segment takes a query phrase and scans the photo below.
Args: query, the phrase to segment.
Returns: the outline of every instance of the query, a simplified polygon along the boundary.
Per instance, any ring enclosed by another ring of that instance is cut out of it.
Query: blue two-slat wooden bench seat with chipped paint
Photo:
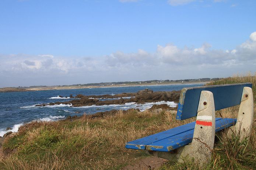
[[[230,127],[235,123],[235,118],[216,118],[215,132]],[[195,124],[196,122],[194,121],[154,135],[127,142],[125,147],[127,149],[170,152],[192,142]]]

